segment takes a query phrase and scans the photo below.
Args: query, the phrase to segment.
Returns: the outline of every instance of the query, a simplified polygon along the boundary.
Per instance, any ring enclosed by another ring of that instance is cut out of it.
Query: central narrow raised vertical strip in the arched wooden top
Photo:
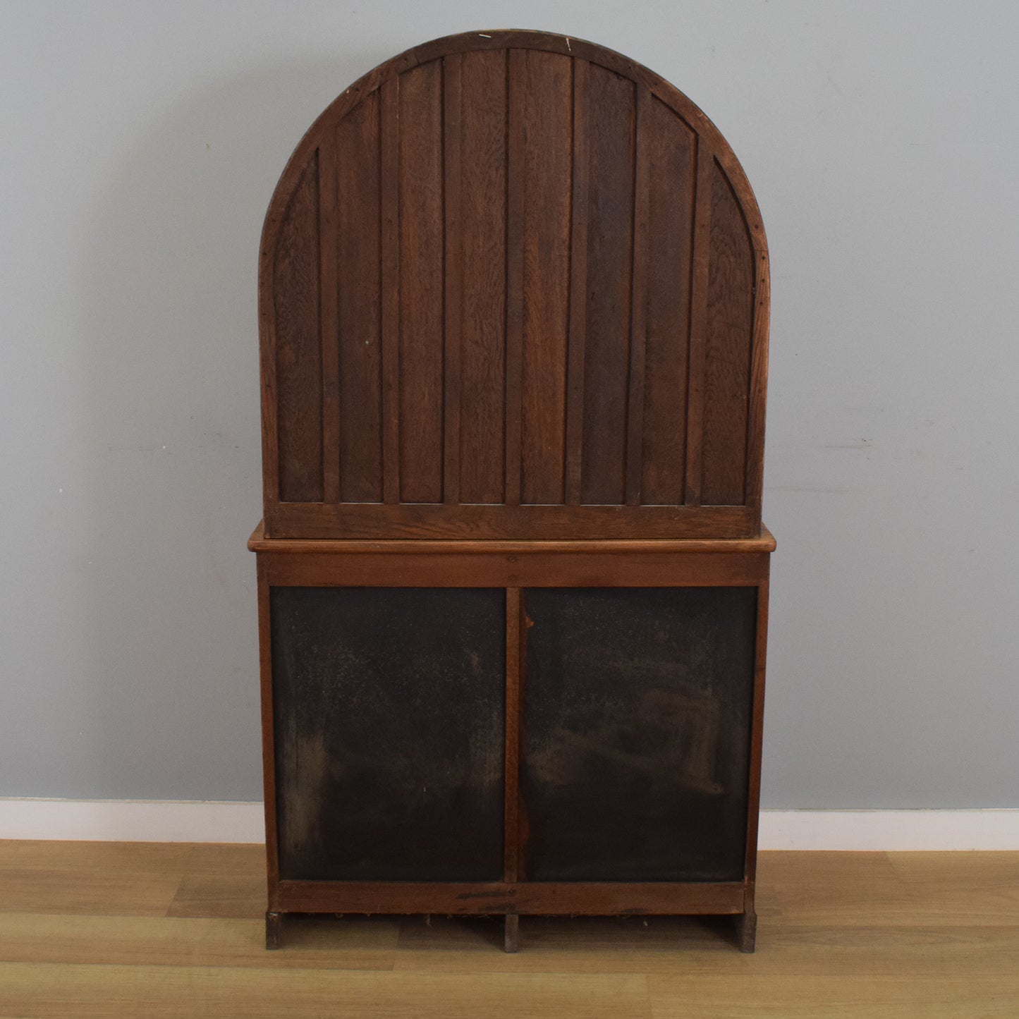
[[[527,53],[509,50],[506,172],[506,428],[505,503],[520,505],[521,371],[524,328],[524,147]]]

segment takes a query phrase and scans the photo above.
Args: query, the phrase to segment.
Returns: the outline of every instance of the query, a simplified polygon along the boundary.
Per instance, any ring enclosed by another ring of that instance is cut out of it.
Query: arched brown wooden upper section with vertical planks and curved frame
[[[266,216],[267,534],[756,534],[767,318],[753,193],[667,82],[535,32],[408,50]]]

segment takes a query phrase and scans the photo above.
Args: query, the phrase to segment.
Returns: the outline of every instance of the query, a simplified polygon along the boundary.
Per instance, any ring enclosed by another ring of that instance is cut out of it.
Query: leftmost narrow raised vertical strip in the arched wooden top
[[[339,309],[336,267],[336,130],[322,136],[318,158],[319,317],[322,324],[322,499],[339,501]]]

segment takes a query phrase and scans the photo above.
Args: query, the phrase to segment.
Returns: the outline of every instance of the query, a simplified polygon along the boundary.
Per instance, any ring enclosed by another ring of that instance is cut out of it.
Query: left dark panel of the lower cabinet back
[[[272,589],[281,878],[501,878],[504,612],[501,589]]]

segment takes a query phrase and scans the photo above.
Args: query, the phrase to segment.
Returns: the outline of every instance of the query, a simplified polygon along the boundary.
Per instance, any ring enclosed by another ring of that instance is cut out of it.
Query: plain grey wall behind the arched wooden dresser
[[[761,205],[765,805],[1019,806],[1019,5],[0,14],[0,796],[260,797],[262,216],[354,78],[514,25],[676,83]]]

